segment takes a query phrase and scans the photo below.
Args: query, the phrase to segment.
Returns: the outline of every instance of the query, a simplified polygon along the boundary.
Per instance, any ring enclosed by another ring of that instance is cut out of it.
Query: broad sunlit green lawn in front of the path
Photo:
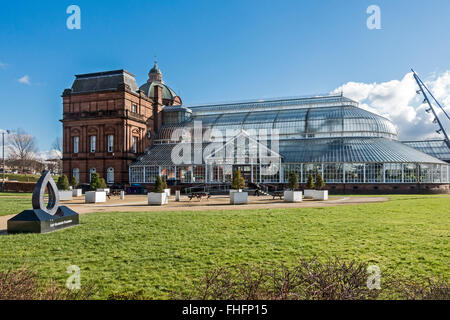
[[[97,298],[140,289],[167,298],[214,266],[268,267],[312,256],[448,279],[449,208],[449,196],[392,196],[328,208],[88,214],[80,226],[51,234],[0,236],[0,270],[27,264],[63,284],[75,264],[82,282],[99,289]]]

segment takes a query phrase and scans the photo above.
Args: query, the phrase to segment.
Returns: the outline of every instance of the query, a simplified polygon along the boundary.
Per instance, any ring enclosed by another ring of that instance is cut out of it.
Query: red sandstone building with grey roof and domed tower
[[[163,106],[181,104],[156,62],[139,88],[126,70],[80,74],[62,98],[63,172],[79,183],[93,172],[128,183],[128,166],[152,144]]]

